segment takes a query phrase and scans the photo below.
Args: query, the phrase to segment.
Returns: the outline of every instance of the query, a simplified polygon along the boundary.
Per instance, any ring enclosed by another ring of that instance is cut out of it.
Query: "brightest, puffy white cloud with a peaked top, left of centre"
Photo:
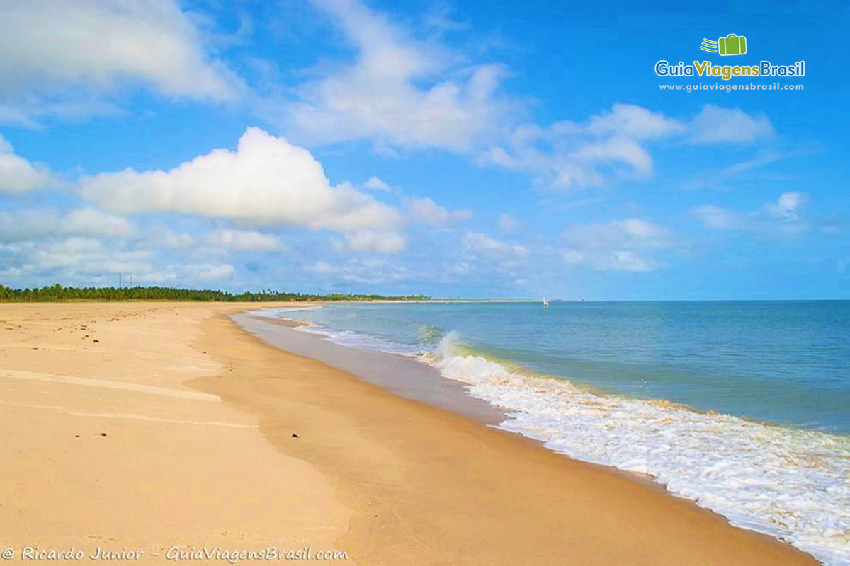
[[[342,233],[389,233],[401,224],[397,210],[350,184],[331,187],[308,150],[255,127],[236,151],[215,149],[170,171],[101,173],[80,184],[86,197],[119,214],[170,211]]]

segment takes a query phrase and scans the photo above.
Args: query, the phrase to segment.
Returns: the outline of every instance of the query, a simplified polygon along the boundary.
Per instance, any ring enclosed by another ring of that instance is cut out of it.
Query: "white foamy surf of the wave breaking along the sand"
[[[470,395],[506,409],[501,429],[587,462],[649,474],[731,524],[774,535],[829,566],[850,565],[850,441],[818,431],[601,395],[458,351],[422,356]]]

